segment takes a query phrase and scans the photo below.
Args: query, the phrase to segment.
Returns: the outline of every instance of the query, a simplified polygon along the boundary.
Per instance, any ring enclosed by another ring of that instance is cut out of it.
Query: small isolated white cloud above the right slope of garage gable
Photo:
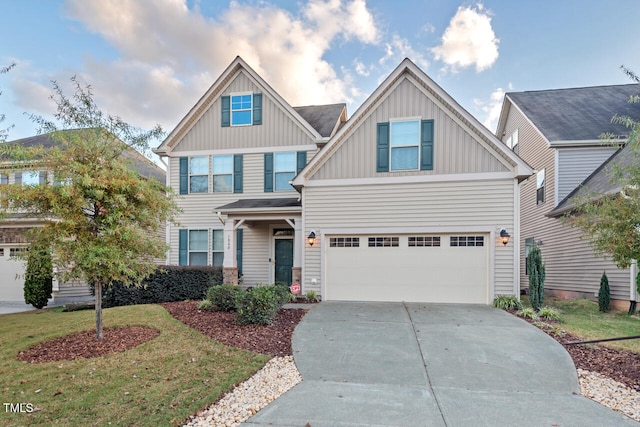
[[[470,66],[480,72],[498,59],[499,42],[482,4],[476,8],[460,6],[442,35],[442,44],[431,51],[452,72]]]

